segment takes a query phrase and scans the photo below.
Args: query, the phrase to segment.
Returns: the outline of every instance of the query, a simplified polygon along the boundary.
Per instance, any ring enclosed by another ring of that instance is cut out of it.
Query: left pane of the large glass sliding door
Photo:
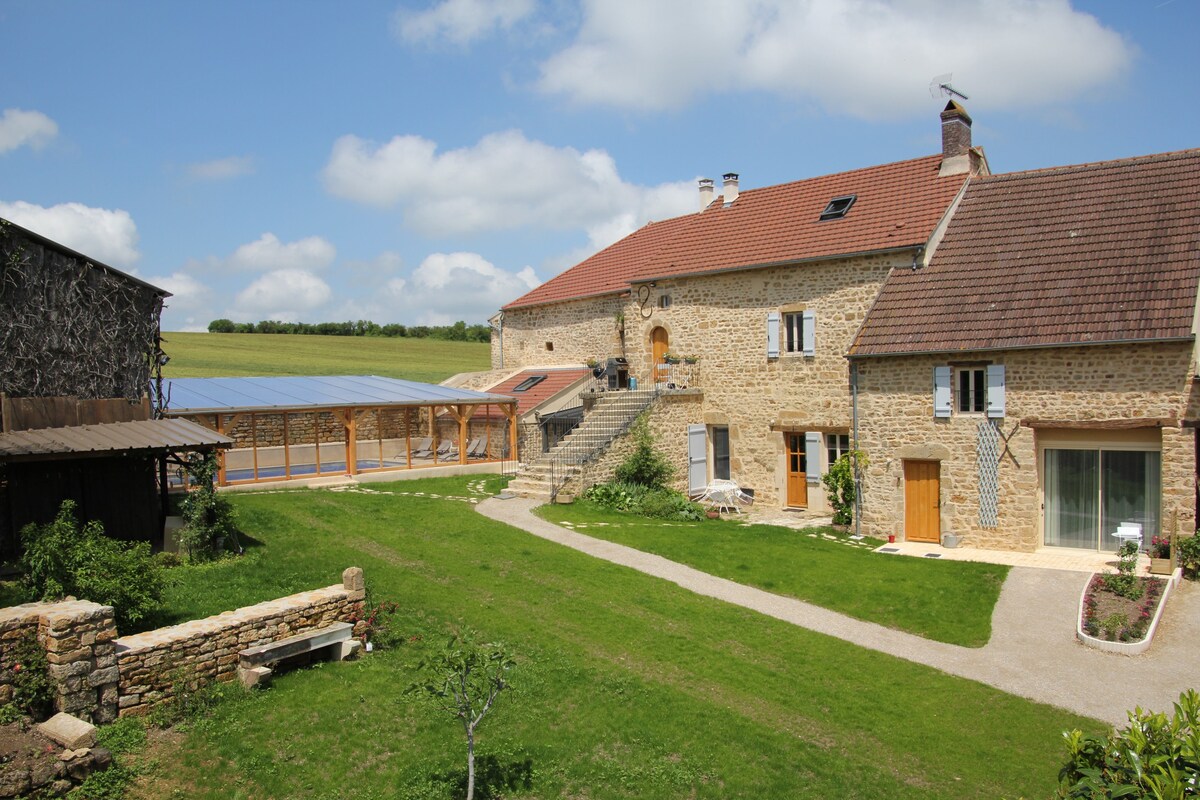
[[[1046,547],[1096,549],[1099,452],[1046,450]]]

